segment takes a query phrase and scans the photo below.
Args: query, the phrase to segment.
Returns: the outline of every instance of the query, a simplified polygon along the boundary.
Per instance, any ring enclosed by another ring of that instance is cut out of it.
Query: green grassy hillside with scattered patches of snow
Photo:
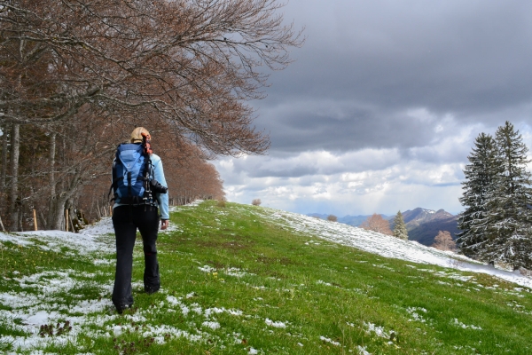
[[[160,233],[162,289],[143,293],[138,244],[136,307],[123,315],[110,302],[112,236],[0,234],[0,351],[532,353],[529,288],[342,246],[317,235],[339,224],[318,233],[294,218],[215,201],[176,209]]]

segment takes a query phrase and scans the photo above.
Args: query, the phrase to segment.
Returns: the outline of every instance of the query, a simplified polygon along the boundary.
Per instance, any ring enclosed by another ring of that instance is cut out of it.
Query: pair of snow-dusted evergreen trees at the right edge
[[[511,122],[481,133],[467,157],[458,248],[490,264],[532,268],[532,185],[528,147]]]

